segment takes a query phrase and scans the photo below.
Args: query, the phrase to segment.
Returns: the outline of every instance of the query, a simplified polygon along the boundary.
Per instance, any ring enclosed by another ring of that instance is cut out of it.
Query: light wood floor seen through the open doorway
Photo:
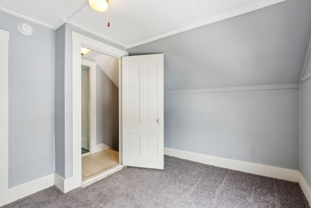
[[[103,150],[82,157],[82,182],[119,164],[119,152]]]

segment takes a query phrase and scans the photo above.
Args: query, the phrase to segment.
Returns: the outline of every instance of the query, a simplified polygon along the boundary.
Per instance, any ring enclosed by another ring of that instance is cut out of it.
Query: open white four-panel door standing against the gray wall
[[[163,57],[122,57],[123,165],[164,168]]]

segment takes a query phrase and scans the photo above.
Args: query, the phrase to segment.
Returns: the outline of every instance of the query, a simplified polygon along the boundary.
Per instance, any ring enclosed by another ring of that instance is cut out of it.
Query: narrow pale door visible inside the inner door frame
[[[89,149],[89,68],[81,66],[82,148]]]

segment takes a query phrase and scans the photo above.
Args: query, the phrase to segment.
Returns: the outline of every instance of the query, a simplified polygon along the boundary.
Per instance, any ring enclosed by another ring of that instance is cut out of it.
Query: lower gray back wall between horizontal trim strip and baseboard
[[[298,170],[299,90],[165,94],[164,146]]]

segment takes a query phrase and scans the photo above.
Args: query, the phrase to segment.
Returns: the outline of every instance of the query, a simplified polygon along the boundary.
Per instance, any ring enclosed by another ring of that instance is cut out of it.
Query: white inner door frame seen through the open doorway
[[[89,67],[89,154],[96,153],[96,62],[81,59]],[[87,154],[86,154],[87,155]]]

